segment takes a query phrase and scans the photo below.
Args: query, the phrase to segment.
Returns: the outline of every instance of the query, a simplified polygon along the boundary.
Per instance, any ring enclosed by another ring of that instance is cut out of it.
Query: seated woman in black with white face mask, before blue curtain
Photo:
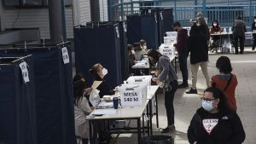
[[[110,89],[106,81],[104,80],[104,77],[108,74],[108,70],[104,68],[101,64],[97,63],[94,66],[91,67],[90,73],[94,76],[94,80],[96,81],[102,81],[102,84],[100,84],[97,89],[100,90],[100,97],[102,98],[104,95],[114,95],[115,91],[113,89]]]

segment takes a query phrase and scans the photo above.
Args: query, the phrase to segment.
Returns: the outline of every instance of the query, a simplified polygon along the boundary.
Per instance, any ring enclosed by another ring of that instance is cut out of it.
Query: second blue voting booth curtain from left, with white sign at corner
[[[0,49],[0,56],[33,55],[38,144],[75,144],[73,73],[64,64],[61,47]]]

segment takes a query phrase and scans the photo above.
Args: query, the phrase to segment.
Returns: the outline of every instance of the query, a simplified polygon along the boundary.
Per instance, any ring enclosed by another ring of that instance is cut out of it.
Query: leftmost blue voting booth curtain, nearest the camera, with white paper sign
[[[26,84],[19,66],[23,61],[30,80]],[[0,58],[0,94],[0,142],[37,144],[32,55]]]

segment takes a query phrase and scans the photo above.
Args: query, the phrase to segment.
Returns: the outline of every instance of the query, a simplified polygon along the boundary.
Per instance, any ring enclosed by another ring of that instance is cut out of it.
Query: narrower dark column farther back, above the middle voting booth
[[[90,0],[91,21],[101,21],[99,0]]]

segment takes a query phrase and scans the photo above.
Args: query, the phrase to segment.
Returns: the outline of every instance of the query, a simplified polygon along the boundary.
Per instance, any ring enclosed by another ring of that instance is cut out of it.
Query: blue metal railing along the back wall
[[[253,23],[253,16],[256,15],[254,0],[119,0],[117,2],[110,5],[117,19],[125,20],[125,15],[140,14],[143,8],[172,8],[174,20],[180,21],[183,26],[190,26],[189,20],[195,19],[196,14],[202,12],[209,26],[212,25],[212,20],[218,20],[220,26],[230,27],[236,16],[240,15],[249,28]],[[109,17],[113,18],[113,15]]]

